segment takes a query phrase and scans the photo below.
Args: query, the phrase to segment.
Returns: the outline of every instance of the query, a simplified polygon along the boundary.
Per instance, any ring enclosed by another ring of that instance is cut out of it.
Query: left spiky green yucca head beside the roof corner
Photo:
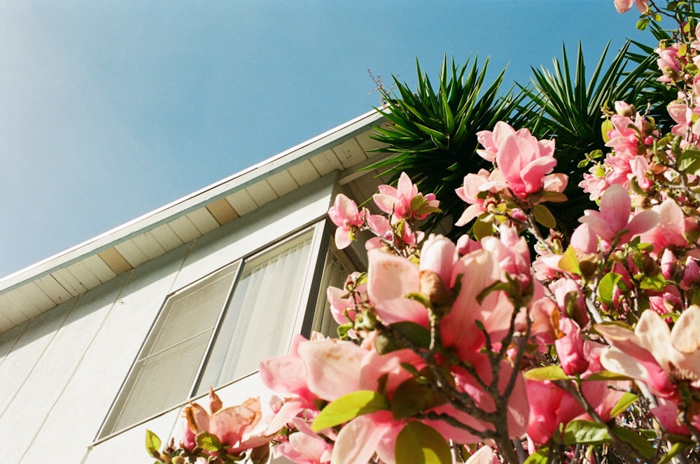
[[[393,174],[394,180],[405,171],[421,192],[434,192],[442,213],[426,225],[428,229],[445,216],[454,223],[464,210],[454,190],[466,174],[490,167],[476,153],[477,132],[493,128],[499,120],[521,125],[524,119],[516,113],[522,94],[499,94],[505,70],[486,85],[487,66],[488,61],[479,68],[476,59],[463,66],[454,60],[448,65],[445,58],[436,87],[419,64],[415,92],[396,78],[394,92],[379,87],[386,105],[378,111],[390,126],[377,128],[374,138],[386,144],[381,151],[391,156],[367,169]]]

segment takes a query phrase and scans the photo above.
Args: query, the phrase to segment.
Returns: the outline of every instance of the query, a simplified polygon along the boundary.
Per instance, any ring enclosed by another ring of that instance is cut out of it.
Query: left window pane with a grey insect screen
[[[188,398],[238,267],[231,265],[167,300],[103,437]]]

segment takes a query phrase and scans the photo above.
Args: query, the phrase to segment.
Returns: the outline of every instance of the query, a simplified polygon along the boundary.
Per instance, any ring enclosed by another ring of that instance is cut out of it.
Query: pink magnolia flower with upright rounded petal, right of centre
[[[630,209],[631,199],[627,190],[621,185],[610,185],[601,197],[601,210],[587,209],[579,221],[588,224],[607,249],[615,239],[625,243],[635,235],[650,230],[659,220],[659,214],[654,211],[642,211],[630,218]]]

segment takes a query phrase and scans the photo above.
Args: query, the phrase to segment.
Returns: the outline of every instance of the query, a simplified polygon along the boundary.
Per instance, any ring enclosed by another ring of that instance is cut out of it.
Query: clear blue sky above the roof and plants
[[[613,0],[0,0],[0,277],[370,111],[367,73],[491,57],[507,83],[638,13]]]

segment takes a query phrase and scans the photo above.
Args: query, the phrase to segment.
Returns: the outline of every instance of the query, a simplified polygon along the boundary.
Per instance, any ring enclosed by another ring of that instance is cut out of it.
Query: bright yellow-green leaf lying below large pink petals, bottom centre
[[[326,405],[314,419],[311,428],[318,432],[381,409],[388,409],[384,395],[370,390],[353,391]]]

